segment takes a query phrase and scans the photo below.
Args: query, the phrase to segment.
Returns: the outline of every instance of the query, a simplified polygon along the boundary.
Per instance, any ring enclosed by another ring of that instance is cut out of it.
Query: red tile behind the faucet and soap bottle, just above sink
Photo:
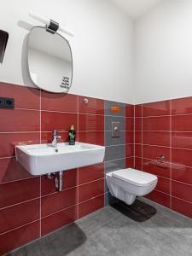
[[[68,131],[59,131],[59,136],[61,136],[60,139],[58,139],[58,143],[68,143]],[[76,141],[78,132],[76,133]],[[45,131],[41,132],[41,143],[52,143],[53,141],[53,131]]]

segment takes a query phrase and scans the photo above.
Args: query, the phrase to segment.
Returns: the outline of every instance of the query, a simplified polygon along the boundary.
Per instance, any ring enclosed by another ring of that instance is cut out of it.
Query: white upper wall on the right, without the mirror
[[[192,1],[165,0],[135,24],[136,102],[192,96]]]

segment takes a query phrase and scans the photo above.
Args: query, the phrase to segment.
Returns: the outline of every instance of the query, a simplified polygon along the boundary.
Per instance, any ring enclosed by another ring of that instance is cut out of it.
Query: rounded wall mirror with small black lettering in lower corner
[[[72,50],[67,39],[35,26],[28,39],[28,68],[32,82],[50,92],[67,92],[73,79]]]

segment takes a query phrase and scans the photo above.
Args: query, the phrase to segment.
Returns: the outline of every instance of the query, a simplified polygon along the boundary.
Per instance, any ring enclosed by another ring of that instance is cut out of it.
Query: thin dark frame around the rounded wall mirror
[[[71,89],[72,83],[73,83],[73,53],[72,53],[72,47],[71,47],[71,45],[69,44],[69,40],[67,40],[67,38],[64,38],[64,37],[63,37],[60,33],[58,33],[58,32],[55,32],[54,35],[57,34],[58,36],[60,36],[63,40],[65,40],[65,41],[67,42],[67,44],[68,44],[68,46],[69,46],[69,49],[70,49],[71,58],[72,58],[72,78],[71,78],[71,83],[70,83],[70,85],[69,85],[69,88],[68,88],[67,90],[65,89],[65,91],[61,91],[61,92],[60,92],[60,91],[46,90],[46,89],[41,88],[40,86],[38,86],[38,84],[35,84],[34,81],[32,80],[32,77],[31,77],[31,74],[30,74],[30,68],[29,68],[29,37],[30,37],[30,33],[32,32],[32,30],[33,30],[34,28],[37,28],[37,27],[43,28],[46,32],[49,32],[49,31],[46,29],[46,26],[33,26],[32,29],[30,30],[30,32],[28,33],[28,38],[27,38],[27,58],[26,58],[26,60],[27,60],[27,69],[28,69],[29,79],[32,81],[32,84],[34,84],[35,86],[37,86],[40,90],[45,90],[45,91],[48,91],[48,92],[50,92],[50,93],[57,93],[57,94],[59,94],[59,93],[67,93],[67,92]]]

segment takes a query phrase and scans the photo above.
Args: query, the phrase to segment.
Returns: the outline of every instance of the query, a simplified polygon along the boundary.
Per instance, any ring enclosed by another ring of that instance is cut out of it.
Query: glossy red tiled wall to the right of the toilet
[[[192,218],[192,97],[135,106],[135,166],[158,176],[147,195]],[[165,161],[157,158],[163,154]]]

